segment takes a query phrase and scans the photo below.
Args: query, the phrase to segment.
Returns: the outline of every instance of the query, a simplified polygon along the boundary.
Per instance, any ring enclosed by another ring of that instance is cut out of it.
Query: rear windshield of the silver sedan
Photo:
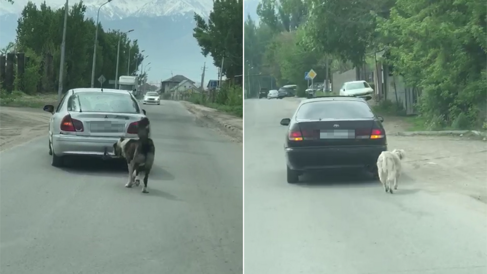
[[[69,98],[68,111],[140,113],[139,105],[125,93],[80,92]]]

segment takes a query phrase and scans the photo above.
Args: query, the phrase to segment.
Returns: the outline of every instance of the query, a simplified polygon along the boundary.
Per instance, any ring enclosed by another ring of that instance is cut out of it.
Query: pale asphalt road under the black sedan
[[[486,204],[473,198],[413,188],[407,175],[390,195],[348,170],[288,184],[279,122],[294,110],[244,103],[245,273],[487,273]]]

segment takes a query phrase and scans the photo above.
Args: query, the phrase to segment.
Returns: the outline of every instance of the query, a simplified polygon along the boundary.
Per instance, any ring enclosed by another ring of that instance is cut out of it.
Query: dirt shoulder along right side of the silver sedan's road
[[[243,142],[244,127],[243,119],[236,117],[216,109],[208,108],[206,106],[193,104],[188,101],[181,101],[187,110],[193,113],[197,120],[209,127],[216,128],[218,131],[231,137],[233,140]]]

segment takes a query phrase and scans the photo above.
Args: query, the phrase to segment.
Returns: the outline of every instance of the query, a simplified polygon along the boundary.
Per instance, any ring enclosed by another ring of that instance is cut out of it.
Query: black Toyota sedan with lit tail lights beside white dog
[[[305,172],[365,167],[377,176],[376,161],[387,150],[384,119],[361,98],[331,96],[304,99],[291,118],[284,142],[287,182]]]

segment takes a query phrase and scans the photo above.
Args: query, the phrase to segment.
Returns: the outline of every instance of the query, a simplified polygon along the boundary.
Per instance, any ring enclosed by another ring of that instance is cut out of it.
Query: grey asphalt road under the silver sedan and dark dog
[[[242,273],[242,145],[178,102],[144,108],[149,194],[123,163],[52,167],[47,136],[1,152],[2,274]]]

